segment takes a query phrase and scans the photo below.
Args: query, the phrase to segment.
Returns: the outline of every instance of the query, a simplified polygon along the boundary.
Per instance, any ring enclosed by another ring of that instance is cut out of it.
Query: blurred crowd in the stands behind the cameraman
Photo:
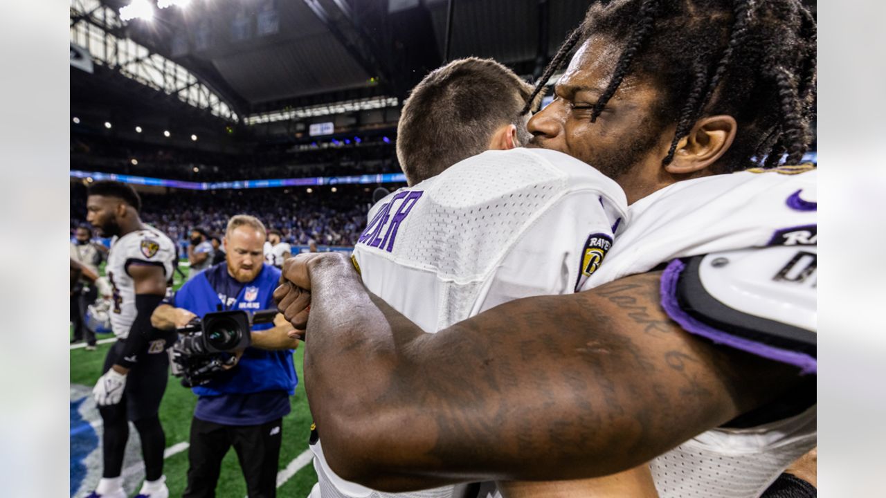
[[[288,189],[173,191],[140,194],[142,220],[187,245],[190,230],[203,228],[220,237],[234,214],[252,214],[270,229],[283,232],[292,245],[354,245],[366,226],[376,186],[338,185]],[[86,187],[71,183],[71,232],[86,220]],[[96,234],[97,235],[97,234]]]

